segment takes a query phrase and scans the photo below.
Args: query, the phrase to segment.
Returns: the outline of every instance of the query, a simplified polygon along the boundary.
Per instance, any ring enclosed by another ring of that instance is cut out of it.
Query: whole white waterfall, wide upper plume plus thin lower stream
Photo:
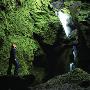
[[[66,36],[69,38],[71,35],[71,32],[73,31],[73,29],[72,29],[73,21],[72,21],[71,15],[62,12],[61,10],[56,11],[55,13],[58,16],[58,18],[60,19],[60,22],[63,26],[63,29],[65,31]],[[74,62],[75,62],[76,57],[77,57],[77,50],[76,50],[75,46],[73,46],[73,52],[72,53],[73,53],[74,58],[73,58],[73,62],[70,63],[70,65],[69,65],[70,71],[72,71],[75,68]]]

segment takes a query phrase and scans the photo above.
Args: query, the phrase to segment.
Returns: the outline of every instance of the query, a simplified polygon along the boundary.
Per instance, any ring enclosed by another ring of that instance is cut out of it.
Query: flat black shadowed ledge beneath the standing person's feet
[[[28,90],[27,87],[31,86],[35,77],[28,76],[0,76],[0,90]]]

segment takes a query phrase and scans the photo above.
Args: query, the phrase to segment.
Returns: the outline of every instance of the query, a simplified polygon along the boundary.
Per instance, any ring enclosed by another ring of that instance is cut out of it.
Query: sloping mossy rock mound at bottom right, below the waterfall
[[[29,87],[29,90],[90,90],[90,75],[81,69],[75,69],[46,83]]]

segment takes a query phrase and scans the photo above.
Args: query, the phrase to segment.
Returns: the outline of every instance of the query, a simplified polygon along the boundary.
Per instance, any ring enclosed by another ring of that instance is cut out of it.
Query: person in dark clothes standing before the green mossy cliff
[[[18,60],[16,58],[16,45],[15,44],[12,44],[12,46],[11,46],[10,58],[9,58],[9,67],[7,70],[7,75],[11,75],[12,65],[15,66],[14,75],[17,76],[18,75],[19,63],[18,63]]]

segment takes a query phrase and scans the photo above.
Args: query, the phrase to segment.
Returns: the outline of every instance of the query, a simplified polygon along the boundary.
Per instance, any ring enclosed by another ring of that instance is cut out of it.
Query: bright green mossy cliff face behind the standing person
[[[32,63],[34,55],[45,55],[38,42],[34,40],[33,32],[43,36],[43,42],[49,45],[55,42],[58,30],[60,33],[63,32],[50,2],[51,0],[0,1],[0,75],[7,74],[10,47],[12,43],[16,43],[17,58],[20,63],[19,75],[34,74],[38,81],[43,79],[45,69],[35,67]],[[87,17],[85,11],[81,12],[81,16],[78,17],[79,21]],[[59,38],[65,38],[63,36],[62,33]],[[69,49],[63,52],[68,60],[70,53],[67,55],[66,52],[70,51]],[[61,55],[62,60],[65,59],[64,54]],[[56,68],[59,68],[59,65]]]

